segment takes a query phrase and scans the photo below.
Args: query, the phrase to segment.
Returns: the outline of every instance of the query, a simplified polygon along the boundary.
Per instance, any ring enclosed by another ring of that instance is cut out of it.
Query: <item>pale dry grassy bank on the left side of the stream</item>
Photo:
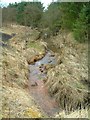
[[[0,82],[2,84],[2,111],[0,117],[43,117],[39,106],[36,105],[29,94],[28,63],[42,58],[45,54],[45,47],[42,42],[35,42],[35,36],[33,38],[33,35],[30,35],[32,30],[28,27],[12,26],[2,28],[2,30],[3,32],[5,30],[5,33],[15,33],[16,35],[9,40],[8,47],[0,48],[2,51],[0,57],[0,77],[2,80]],[[26,34],[28,37],[26,37]],[[28,46],[27,42],[29,42]]]

